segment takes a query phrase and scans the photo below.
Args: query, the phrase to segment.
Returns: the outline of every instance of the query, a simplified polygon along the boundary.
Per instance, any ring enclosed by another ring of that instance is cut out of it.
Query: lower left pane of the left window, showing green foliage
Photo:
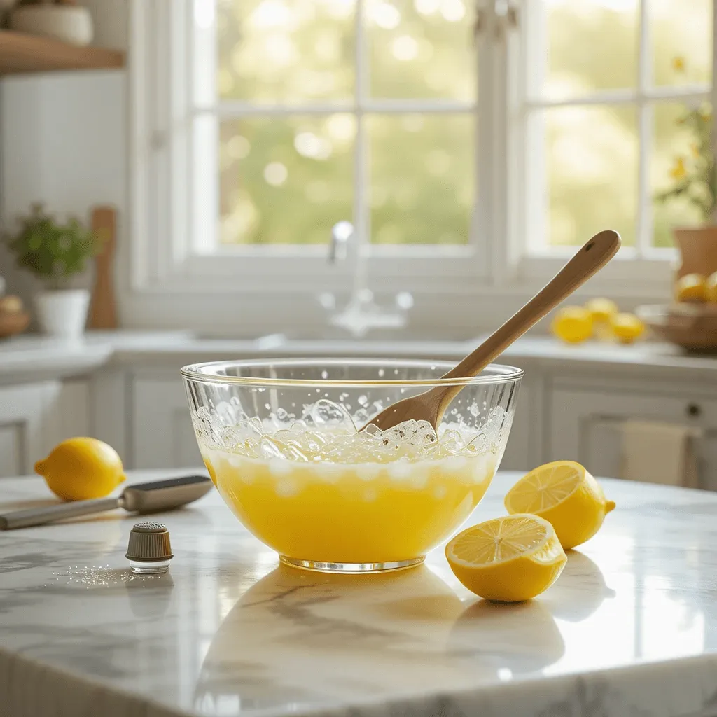
[[[323,244],[353,212],[353,115],[222,123],[222,244]]]

